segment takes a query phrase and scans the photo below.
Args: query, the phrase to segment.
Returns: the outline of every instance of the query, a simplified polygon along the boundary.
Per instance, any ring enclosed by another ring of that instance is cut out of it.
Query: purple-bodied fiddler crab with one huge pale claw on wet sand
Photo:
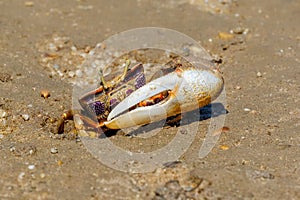
[[[168,69],[146,83],[144,68],[137,64],[130,69],[127,60],[123,74],[105,81],[101,73],[99,88],[79,99],[83,110],[62,115],[73,119],[79,129],[122,129],[145,125],[208,105],[222,92],[224,80],[217,69],[195,67],[182,57],[166,64]],[[75,118],[77,120],[75,120]]]

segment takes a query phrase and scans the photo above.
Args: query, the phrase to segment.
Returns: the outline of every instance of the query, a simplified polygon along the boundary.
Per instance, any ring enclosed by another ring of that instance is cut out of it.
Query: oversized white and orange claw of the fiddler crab
[[[144,125],[206,106],[218,97],[223,84],[218,71],[208,68],[177,68],[174,72],[149,82],[120,102],[108,115],[105,126],[120,129]],[[158,103],[137,106],[163,92],[168,95]]]

